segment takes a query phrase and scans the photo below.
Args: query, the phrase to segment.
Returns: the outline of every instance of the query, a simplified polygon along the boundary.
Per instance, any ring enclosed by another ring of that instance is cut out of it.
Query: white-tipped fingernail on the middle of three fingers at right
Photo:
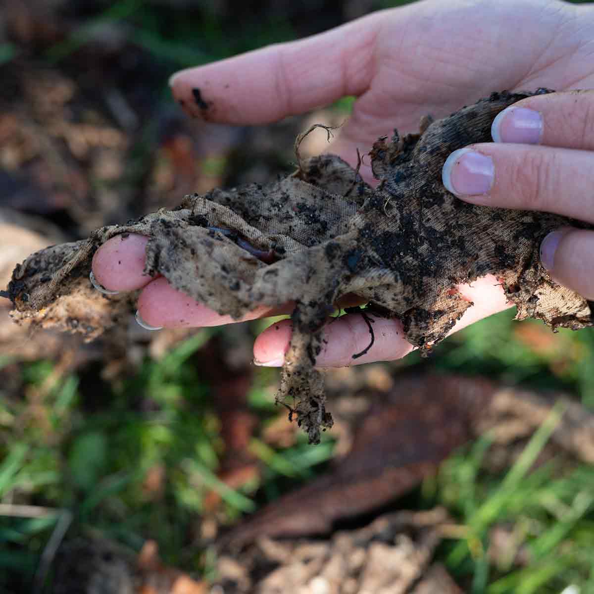
[[[441,179],[452,194],[488,194],[495,176],[493,160],[472,149],[455,150],[445,160]]]

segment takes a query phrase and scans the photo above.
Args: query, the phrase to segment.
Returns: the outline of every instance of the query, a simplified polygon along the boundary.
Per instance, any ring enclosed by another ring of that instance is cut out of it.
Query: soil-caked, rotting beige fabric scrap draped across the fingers
[[[369,153],[380,182],[375,190],[339,157],[324,154],[299,160],[296,172],[268,185],[187,195],[175,210],[37,252],[12,275],[12,315],[64,327],[62,310],[54,308],[50,322],[48,308],[78,295],[86,308],[68,315],[80,320],[76,331],[88,326],[95,336],[112,323],[95,312],[119,302],[87,290],[94,251],[115,235],[147,235],[145,273],[162,274],[219,314],[240,318],[255,304],[295,303],[279,400],[312,443],[332,423],[315,369],[320,330],[347,293],[368,302],[369,314],[402,320],[406,340],[422,352],[444,339],[471,305],[454,287],[485,274],[501,280],[518,319],[539,318],[552,328],[592,326],[586,299],[555,283],[539,259],[551,230],[592,226],[466,204],[441,182],[452,151],[490,141],[495,116],[531,94],[492,93],[448,118],[424,119],[422,133],[380,138]],[[194,97],[208,107],[200,90]]]

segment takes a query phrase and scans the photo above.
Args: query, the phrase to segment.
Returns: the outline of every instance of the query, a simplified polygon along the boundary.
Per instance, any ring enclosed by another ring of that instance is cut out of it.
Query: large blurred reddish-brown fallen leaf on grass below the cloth
[[[325,534],[336,520],[405,494],[473,437],[473,424],[494,391],[489,382],[459,378],[400,381],[365,418],[350,452],[330,472],[245,520],[220,545],[237,548],[264,535]]]

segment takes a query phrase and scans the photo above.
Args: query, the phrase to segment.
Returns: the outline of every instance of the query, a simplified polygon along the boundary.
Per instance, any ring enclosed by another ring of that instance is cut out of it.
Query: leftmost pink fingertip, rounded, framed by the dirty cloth
[[[149,238],[122,233],[105,242],[93,256],[93,274],[97,282],[112,291],[140,289],[151,277],[143,274]]]

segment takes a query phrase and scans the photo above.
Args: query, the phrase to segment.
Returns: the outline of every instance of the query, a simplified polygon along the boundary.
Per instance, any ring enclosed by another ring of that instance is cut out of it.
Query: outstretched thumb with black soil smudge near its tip
[[[209,121],[265,124],[303,113],[367,88],[381,18],[188,68],[169,84],[189,115]]]

